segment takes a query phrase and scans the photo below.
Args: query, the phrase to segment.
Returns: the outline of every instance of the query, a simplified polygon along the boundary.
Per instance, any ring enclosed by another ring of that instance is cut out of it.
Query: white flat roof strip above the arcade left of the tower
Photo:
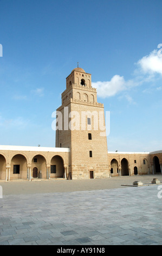
[[[46,147],[10,146],[10,145],[0,145],[0,150],[38,151],[38,152],[70,152],[69,148],[46,148]]]

